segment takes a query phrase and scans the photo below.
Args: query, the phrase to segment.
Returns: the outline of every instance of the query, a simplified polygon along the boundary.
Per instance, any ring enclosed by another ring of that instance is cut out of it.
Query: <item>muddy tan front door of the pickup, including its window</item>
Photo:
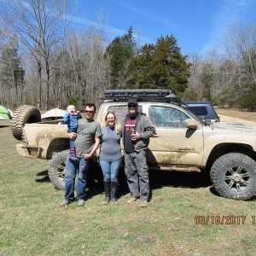
[[[158,137],[150,138],[148,165],[201,166],[203,134],[200,123],[197,130],[186,128],[187,113],[175,106],[151,106],[148,109]]]

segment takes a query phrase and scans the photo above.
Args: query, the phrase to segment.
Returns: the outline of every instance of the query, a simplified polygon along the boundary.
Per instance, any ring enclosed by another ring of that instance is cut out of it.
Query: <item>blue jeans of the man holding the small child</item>
[[[89,160],[84,157],[78,157],[77,160],[66,159],[65,169],[65,200],[74,200],[75,177],[78,173],[77,199],[84,200],[86,188],[86,176],[89,166]]]

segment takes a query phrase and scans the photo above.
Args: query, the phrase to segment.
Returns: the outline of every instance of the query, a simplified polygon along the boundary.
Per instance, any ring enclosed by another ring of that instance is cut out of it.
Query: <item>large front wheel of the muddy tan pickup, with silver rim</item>
[[[256,195],[256,162],[246,154],[224,154],[210,172],[213,188],[226,198],[248,200]]]

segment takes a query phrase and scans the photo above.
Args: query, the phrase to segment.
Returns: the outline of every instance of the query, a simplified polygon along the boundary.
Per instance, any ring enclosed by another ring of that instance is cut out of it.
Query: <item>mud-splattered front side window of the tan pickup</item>
[[[189,117],[177,108],[152,106],[149,108],[149,119],[157,127],[186,127]]]

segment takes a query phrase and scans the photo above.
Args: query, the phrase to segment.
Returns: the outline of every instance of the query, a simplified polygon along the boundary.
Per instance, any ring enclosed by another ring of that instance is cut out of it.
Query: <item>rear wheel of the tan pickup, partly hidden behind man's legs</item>
[[[65,189],[65,167],[69,150],[56,154],[49,163],[48,176],[56,189]]]

